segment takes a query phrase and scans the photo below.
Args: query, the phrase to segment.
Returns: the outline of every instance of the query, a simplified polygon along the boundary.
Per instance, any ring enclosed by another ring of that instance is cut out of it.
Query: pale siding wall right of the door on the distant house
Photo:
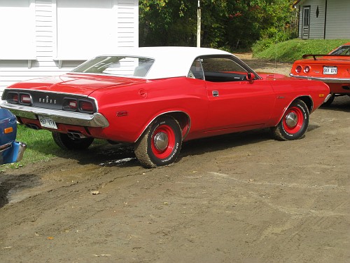
[[[350,1],[328,0],[326,39],[350,39]]]

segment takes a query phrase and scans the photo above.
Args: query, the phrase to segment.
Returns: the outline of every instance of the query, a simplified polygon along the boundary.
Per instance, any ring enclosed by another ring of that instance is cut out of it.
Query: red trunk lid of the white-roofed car
[[[22,81],[10,86],[10,88],[40,90],[56,93],[74,93],[88,96],[100,88],[131,85],[144,81],[144,79],[133,79],[118,76],[65,74],[62,76],[51,76],[41,79]]]

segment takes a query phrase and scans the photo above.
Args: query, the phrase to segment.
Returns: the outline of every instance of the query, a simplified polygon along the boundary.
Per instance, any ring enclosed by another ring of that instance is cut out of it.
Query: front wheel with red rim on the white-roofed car
[[[304,136],[309,126],[309,109],[302,100],[290,104],[279,124],[272,128],[276,140],[297,140]]]

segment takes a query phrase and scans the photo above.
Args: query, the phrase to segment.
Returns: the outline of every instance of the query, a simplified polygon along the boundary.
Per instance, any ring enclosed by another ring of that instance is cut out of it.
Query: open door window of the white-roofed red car
[[[206,81],[246,81],[246,69],[230,58],[201,58],[201,65]]]

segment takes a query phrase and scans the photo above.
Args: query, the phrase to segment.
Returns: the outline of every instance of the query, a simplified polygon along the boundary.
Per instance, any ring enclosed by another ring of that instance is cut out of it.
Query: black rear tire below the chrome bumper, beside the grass
[[[52,132],[52,138],[59,147],[65,150],[85,150],[94,141],[94,138],[91,137],[73,139],[65,133],[57,132]]]

